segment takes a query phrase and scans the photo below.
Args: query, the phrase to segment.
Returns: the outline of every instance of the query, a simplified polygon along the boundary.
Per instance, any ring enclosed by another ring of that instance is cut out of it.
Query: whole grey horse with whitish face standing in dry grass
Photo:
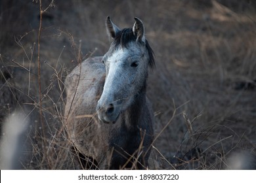
[[[90,57],[66,76],[65,128],[83,169],[148,169],[154,112],[146,97],[154,52],[144,25],[119,29],[110,17],[112,39],[104,56]]]

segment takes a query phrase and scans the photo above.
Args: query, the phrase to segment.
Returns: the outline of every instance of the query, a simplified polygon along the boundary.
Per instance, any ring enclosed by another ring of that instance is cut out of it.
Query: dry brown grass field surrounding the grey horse
[[[253,1],[55,2],[42,17],[40,52],[39,2],[1,3],[1,127],[16,109],[30,118],[20,169],[77,168],[63,127],[63,81],[80,60],[108,50],[106,16],[119,27],[138,16],[156,54],[148,79],[156,112],[150,168],[232,169],[229,157],[245,152],[252,157],[246,169],[255,169]]]

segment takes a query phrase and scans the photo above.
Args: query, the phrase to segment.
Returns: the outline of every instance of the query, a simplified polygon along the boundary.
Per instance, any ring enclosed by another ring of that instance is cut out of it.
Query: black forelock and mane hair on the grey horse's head
[[[133,34],[133,29],[131,28],[125,28],[119,31],[113,41],[114,46],[121,46],[122,48],[127,48],[129,42],[136,41],[136,37]],[[148,44],[148,41],[146,40],[146,50],[148,50],[148,56],[149,56],[149,66],[151,69],[154,69],[155,67],[155,58],[154,58],[154,52],[150,45]]]

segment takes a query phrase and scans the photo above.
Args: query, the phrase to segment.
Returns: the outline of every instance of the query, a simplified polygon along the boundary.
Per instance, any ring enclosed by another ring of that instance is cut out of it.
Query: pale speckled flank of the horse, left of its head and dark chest
[[[96,141],[102,141],[96,132],[99,130],[96,103],[102,93],[104,80],[105,69],[100,57],[86,59],[65,80],[66,130],[81,152],[86,152],[89,146],[95,146]],[[97,153],[94,150],[88,152],[88,155],[93,154]]]

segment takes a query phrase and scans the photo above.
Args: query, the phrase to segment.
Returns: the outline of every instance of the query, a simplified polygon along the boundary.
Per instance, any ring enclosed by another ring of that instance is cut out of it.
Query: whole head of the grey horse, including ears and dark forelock
[[[106,80],[96,109],[100,120],[114,123],[146,87],[149,52],[139,18],[132,29],[120,30],[108,17],[106,27],[114,41],[102,59]]]

